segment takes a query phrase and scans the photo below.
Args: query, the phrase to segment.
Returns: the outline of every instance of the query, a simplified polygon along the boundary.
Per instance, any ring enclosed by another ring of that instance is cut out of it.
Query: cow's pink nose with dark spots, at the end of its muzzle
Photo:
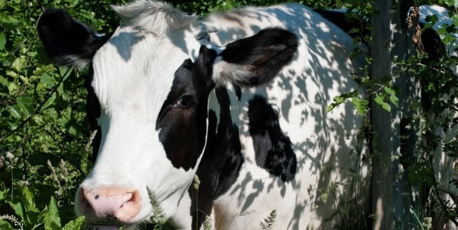
[[[111,217],[115,217],[117,222],[129,222],[141,209],[141,198],[137,190],[81,188],[80,193],[80,211],[89,222],[99,222]]]

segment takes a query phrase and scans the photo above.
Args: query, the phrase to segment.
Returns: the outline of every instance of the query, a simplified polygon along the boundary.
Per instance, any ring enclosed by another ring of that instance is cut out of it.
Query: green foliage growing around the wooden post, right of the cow
[[[352,29],[351,32],[361,33],[364,29],[370,31],[372,28],[367,26],[370,25],[370,22],[367,20],[373,11],[372,6],[370,4],[367,5],[370,1],[346,1],[346,3],[348,3],[346,6],[349,9],[347,18],[361,25],[361,27]],[[424,3],[437,3],[437,1],[420,1],[417,3],[421,5]],[[442,25],[442,28],[437,31],[442,38],[442,42],[448,46],[456,42],[453,34],[457,34],[458,16],[456,12],[458,3],[457,1],[448,0],[439,1],[439,3],[450,10],[450,15],[453,18],[451,25]],[[426,24],[424,29],[432,27],[439,21],[439,18],[437,16],[429,16],[426,18],[426,21],[429,21],[429,24]],[[356,39],[356,42],[371,44],[372,38],[361,36]],[[457,51],[456,47],[455,51]],[[363,89],[361,90],[364,92],[363,95],[357,92],[341,94],[335,97],[333,103],[328,106],[328,112],[347,99],[351,99],[359,114],[365,114],[369,109],[366,106],[361,107],[362,99],[366,100],[363,105],[367,105],[366,102],[372,101],[375,105],[379,105],[391,113],[393,113],[393,105],[395,107],[408,107],[413,115],[407,117],[410,123],[405,126],[405,129],[411,131],[411,133],[416,133],[413,134],[416,136],[403,136],[401,138],[404,141],[409,141],[409,144],[413,144],[415,148],[413,155],[402,156],[401,162],[405,167],[411,190],[419,192],[418,199],[428,202],[420,204],[417,201],[415,209],[411,207],[411,215],[416,222],[407,223],[407,221],[410,221],[407,220],[402,222],[401,225],[402,227],[415,226],[418,229],[429,229],[431,228],[431,216],[434,214],[442,215],[446,219],[456,223],[456,216],[458,216],[457,207],[448,201],[442,200],[442,194],[447,193],[447,191],[439,188],[439,183],[444,183],[444,181],[436,181],[435,177],[438,174],[438,170],[442,170],[442,168],[437,168],[437,162],[433,161],[437,154],[437,146],[441,143],[443,143],[442,151],[448,157],[451,157],[450,159],[446,159],[448,162],[444,162],[445,166],[454,162],[457,159],[456,157],[458,157],[458,136],[456,134],[455,136],[448,136],[448,134],[444,136],[437,135],[438,128],[444,132],[457,128],[458,118],[456,116],[458,107],[456,100],[458,99],[458,77],[450,66],[456,66],[458,58],[456,56],[448,57],[445,55],[437,62],[423,64],[427,55],[421,51],[418,51],[417,55],[407,57],[405,60],[397,60],[397,57],[394,57],[394,60],[392,60],[392,63],[396,66],[394,73],[386,79],[374,81],[370,77],[370,71],[367,71],[368,66],[372,62],[372,58],[369,56],[370,54],[364,49],[355,49],[353,56],[359,57],[359,55],[366,55],[366,66],[361,68],[363,74],[354,78]],[[410,101],[407,99],[400,101],[398,99],[401,92],[394,82],[405,81],[402,77],[406,75],[415,76],[420,82],[422,99],[413,99]],[[415,138],[415,140],[410,140],[409,138]],[[448,186],[458,187],[457,169],[454,169],[455,172],[452,171],[452,175],[450,175],[452,179],[448,183]],[[411,197],[408,196],[407,199],[411,199]],[[346,202],[344,201],[343,203]],[[413,201],[410,202],[415,203]],[[343,228],[350,226],[344,225]],[[400,229],[402,227],[399,226]]]

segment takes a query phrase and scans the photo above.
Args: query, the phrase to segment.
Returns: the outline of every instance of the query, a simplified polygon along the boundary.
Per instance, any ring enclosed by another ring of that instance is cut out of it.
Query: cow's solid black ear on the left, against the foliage
[[[85,66],[108,40],[65,10],[46,10],[36,27],[51,60],[60,65]]]

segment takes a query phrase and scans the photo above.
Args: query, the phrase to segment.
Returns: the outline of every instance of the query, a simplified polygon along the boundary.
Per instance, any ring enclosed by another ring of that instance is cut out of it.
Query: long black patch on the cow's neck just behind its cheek
[[[226,88],[215,89],[220,105],[219,124],[215,112],[208,112],[207,146],[197,168],[197,176],[201,183],[198,192],[193,186],[189,188],[192,199],[191,215],[193,229],[200,228],[206,215],[210,216],[213,201],[227,192],[239,177],[243,164],[239,129],[230,117],[230,99]],[[196,207],[196,200],[199,202]],[[195,210],[198,209],[199,212]]]

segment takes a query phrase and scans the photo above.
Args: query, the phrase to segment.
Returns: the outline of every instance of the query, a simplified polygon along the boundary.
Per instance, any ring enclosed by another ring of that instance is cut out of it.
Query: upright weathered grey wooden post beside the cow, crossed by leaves
[[[391,1],[376,0],[372,14],[372,79],[391,77]],[[376,89],[374,89],[376,90]],[[372,212],[374,229],[394,229],[393,175],[391,155],[394,154],[391,113],[372,103]]]

